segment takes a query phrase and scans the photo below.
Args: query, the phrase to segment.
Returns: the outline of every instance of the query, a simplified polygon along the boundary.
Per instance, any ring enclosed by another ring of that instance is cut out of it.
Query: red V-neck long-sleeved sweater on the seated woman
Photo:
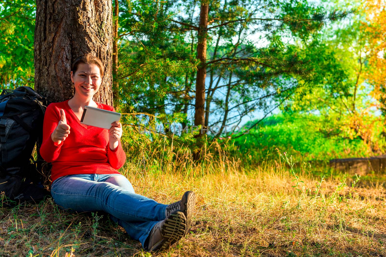
[[[110,105],[97,104],[98,108],[115,112]],[[51,134],[58,126],[60,109],[66,113],[70,134],[58,145],[52,141]],[[108,130],[81,124],[69,107],[68,100],[47,106],[40,154],[46,162],[52,163],[52,182],[70,174],[119,174],[117,169],[120,169],[126,160],[121,142],[119,141],[118,147],[112,151],[108,142]]]

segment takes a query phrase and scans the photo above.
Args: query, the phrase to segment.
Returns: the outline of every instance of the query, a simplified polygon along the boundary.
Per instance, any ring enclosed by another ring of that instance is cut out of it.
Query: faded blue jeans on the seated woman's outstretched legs
[[[56,179],[51,195],[63,210],[95,212],[103,210],[142,246],[151,229],[165,219],[166,206],[134,193],[121,174],[76,174]]]

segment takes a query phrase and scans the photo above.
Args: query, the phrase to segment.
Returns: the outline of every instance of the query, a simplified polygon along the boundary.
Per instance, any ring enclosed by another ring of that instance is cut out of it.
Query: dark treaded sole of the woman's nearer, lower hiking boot
[[[161,227],[161,234],[164,239],[154,245],[150,251],[166,250],[171,245],[180,240],[186,233],[185,214],[180,211],[174,211],[166,218]]]

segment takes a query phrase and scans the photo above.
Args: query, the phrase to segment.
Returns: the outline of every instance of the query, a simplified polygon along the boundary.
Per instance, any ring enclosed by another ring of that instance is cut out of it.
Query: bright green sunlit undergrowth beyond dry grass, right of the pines
[[[276,149],[300,162],[372,154],[361,139],[323,134],[330,124],[318,115],[273,115],[259,125],[234,141],[244,156],[251,155],[257,162],[266,158],[277,159]],[[384,141],[382,136],[378,140]]]

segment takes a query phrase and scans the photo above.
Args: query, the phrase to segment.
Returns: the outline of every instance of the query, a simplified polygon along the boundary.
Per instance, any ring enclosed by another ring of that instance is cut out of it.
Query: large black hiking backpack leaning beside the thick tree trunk
[[[30,87],[4,89],[0,95],[0,206],[39,201],[49,191],[43,184],[39,154],[47,100]],[[35,144],[37,160],[32,157]]]

